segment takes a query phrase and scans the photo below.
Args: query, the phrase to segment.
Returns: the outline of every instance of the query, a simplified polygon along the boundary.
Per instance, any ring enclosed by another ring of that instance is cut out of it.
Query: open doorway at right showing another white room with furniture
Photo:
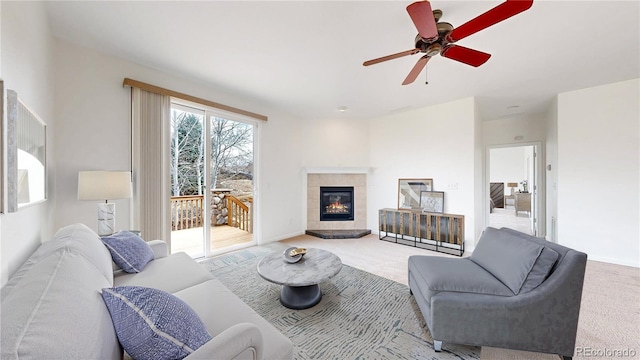
[[[540,143],[487,148],[486,226],[544,236]]]

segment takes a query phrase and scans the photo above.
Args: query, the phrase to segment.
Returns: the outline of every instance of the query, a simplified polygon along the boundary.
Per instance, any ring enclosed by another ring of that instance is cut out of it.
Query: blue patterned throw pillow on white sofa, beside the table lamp
[[[154,259],[153,250],[142,238],[130,231],[102,237],[113,262],[128,273],[139,273]]]

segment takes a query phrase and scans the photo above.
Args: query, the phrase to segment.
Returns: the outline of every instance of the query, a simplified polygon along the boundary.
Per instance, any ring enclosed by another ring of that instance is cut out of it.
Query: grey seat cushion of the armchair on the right
[[[513,296],[500,280],[469,258],[413,255],[409,276],[427,300],[442,291]]]

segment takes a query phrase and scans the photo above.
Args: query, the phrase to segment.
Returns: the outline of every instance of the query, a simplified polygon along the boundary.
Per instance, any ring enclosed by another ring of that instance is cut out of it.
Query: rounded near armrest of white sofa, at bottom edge
[[[226,329],[185,359],[232,360],[243,353],[251,354],[254,360],[262,360],[262,333],[254,324],[240,323]]]

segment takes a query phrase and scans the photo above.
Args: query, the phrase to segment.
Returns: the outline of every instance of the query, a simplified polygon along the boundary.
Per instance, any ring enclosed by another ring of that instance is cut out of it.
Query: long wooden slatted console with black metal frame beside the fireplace
[[[378,210],[380,240],[452,255],[464,253],[464,215]]]

